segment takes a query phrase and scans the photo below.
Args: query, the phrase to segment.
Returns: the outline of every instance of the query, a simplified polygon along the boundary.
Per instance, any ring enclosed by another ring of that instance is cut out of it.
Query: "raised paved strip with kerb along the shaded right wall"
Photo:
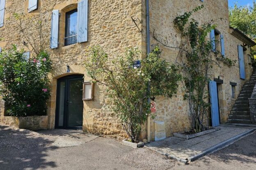
[[[255,127],[218,127],[220,130],[199,136],[197,138],[185,140],[177,137],[170,137],[161,141],[151,142],[147,148],[160,152],[161,154],[176,157],[177,159],[187,160],[192,156],[202,154],[205,150],[227,141],[242,133],[248,132]]]

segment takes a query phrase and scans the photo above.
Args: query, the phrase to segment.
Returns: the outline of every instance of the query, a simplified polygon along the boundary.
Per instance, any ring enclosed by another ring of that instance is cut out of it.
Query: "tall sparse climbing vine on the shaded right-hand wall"
[[[203,5],[174,19],[174,29],[178,32],[174,38],[174,46],[168,45],[167,38],[153,32],[155,40],[178,50],[176,62],[183,74],[183,96],[189,103],[192,128],[195,132],[208,129],[210,103],[207,86],[211,69],[214,65],[221,67],[221,62],[228,67],[235,65],[235,60],[222,56],[216,49],[213,50],[212,44],[215,42],[210,40],[209,33],[216,27],[214,21],[199,25],[197,20],[191,18],[193,13],[201,9]]]

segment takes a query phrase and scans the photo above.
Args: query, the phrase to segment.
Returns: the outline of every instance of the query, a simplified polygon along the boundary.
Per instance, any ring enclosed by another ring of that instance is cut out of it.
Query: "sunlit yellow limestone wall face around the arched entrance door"
[[[27,13],[28,0],[6,0],[5,26],[0,28],[0,46],[9,48],[15,43],[18,48],[29,50],[22,44],[23,38],[16,27],[14,12],[25,13],[29,16],[40,16],[43,21],[43,29],[46,30],[45,39],[48,40],[47,47],[50,46],[51,12],[59,9],[61,14],[59,24],[59,48],[48,49],[53,60],[53,72],[51,78],[51,98],[48,102],[48,128],[54,128],[56,84],[57,78],[66,76],[66,65],[70,66],[70,74],[86,74],[83,67],[85,58],[89,55],[89,48],[94,45],[101,45],[111,58],[123,54],[127,47],[142,46],[142,33],[140,30],[142,20],[141,0],[89,0],[88,12],[88,42],[74,44],[64,47],[64,16],[65,12],[75,7],[79,0],[39,0],[39,9],[32,13]],[[137,19],[133,22],[133,19]],[[34,25],[23,23],[30,34],[37,34]],[[28,46],[29,47],[29,46]],[[85,76],[85,81],[89,78]],[[115,113],[110,112],[105,95],[104,87],[96,85],[94,101],[84,102],[83,129],[98,134],[111,136],[126,136],[121,128],[121,123]],[[1,103],[0,107],[3,107]],[[7,121],[7,117],[0,115],[1,119]],[[2,121],[1,121],[2,122]],[[8,121],[7,121],[8,122]]]

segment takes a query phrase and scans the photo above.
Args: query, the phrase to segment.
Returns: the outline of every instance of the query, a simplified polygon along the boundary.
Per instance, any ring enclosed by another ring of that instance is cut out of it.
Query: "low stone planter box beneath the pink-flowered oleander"
[[[46,130],[48,126],[48,116],[27,116],[12,117],[14,127],[27,130]]]

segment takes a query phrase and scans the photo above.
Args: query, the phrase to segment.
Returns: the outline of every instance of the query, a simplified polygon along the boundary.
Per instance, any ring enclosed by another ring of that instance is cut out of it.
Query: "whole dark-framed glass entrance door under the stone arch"
[[[55,128],[82,129],[82,83],[83,75],[58,79]]]

